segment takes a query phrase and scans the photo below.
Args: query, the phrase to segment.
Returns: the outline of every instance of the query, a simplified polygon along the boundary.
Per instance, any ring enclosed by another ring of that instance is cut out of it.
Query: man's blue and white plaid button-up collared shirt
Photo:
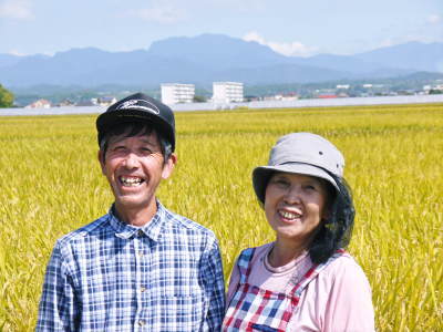
[[[214,234],[157,203],[142,228],[110,212],[58,240],[37,331],[219,331],[225,308]]]

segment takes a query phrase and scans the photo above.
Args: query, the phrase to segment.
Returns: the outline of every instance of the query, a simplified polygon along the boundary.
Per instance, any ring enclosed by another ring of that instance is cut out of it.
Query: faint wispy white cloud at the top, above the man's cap
[[[185,11],[168,4],[131,10],[126,14],[130,17],[140,18],[142,20],[162,24],[177,23],[187,19],[187,14]]]

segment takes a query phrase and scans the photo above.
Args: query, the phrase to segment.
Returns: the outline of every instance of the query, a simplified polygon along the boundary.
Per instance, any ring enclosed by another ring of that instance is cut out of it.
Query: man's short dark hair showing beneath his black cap
[[[146,123],[141,122],[126,122],[121,123],[114,127],[112,127],[105,135],[103,135],[102,141],[100,142],[100,149],[103,152],[103,158],[106,155],[107,145],[111,137],[125,135],[125,137],[134,137],[138,135],[151,135],[151,133],[155,132],[158,137],[159,146],[162,149],[163,157],[165,163],[169,158],[172,154],[172,144],[167,142],[158,131],[156,131],[153,126]]]

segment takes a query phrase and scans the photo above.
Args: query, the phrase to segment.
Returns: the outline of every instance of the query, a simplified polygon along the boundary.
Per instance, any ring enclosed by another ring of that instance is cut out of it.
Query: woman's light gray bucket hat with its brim
[[[297,173],[320,177],[337,190],[339,186],[330,174],[343,176],[344,158],[326,138],[311,133],[292,133],[280,137],[269,154],[267,166],[253,170],[257,198],[265,203],[265,189],[274,172]]]

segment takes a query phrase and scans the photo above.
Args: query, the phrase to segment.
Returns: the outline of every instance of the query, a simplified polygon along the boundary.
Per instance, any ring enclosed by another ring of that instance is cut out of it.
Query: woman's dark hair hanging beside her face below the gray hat
[[[337,194],[330,201],[328,219],[322,220],[309,247],[309,256],[315,263],[326,262],[338,249],[348,247],[356,216],[348,183],[344,178],[329,175],[336,180],[339,190],[336,190]]]

